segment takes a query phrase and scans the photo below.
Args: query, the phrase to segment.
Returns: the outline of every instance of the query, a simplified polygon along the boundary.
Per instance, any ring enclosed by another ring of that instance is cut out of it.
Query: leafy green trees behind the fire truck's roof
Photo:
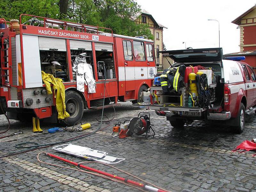
[[[19,19],[26,13],[87,25],[111,28],[126,36],[146,35],[153,39],[148,25],[137,25],[131,17],[140,12],[135,0],[1,0],[0,15],[6,20]],[[25,22],[28,18],[24,18]],[[103,29],[102,29],[103,30]]]

